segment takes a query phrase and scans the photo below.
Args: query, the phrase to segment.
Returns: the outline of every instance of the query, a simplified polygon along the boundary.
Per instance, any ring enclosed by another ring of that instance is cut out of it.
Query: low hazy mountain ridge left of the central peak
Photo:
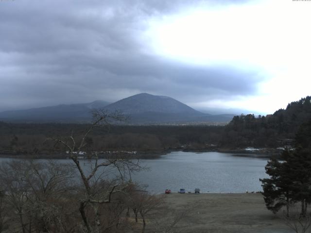
[[[91,109],[104,108],[108,104],[106,101],[96,100],[90,103],[60,104],[57,106],[26,110],[5,111],[0,113],[0,120],[20,122],[83,122],[91,118]]]

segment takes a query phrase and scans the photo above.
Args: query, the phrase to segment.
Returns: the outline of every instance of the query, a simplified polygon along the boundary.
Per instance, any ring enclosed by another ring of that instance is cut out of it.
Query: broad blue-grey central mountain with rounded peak
[[[234,116],[204,114],[171,97],[147,93],[119,100],[105,109],[120,110],[130,117],[128,122],[132,124],[228,122]]]

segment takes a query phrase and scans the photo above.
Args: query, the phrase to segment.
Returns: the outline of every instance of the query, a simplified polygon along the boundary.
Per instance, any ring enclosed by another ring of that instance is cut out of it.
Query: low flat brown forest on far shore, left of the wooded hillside
[[[0,124],[0,151],[2,154],[44,155],[64,152],[44,142],[47,137],[67,136],[73,133],[81,138],[88,125],[82,124]],[[177,150],[187,145],[205,148],[216,145],[222,135],[221,126],[110,126],[98,127],[87,137],[87,149],[95,151],[163,151]]]

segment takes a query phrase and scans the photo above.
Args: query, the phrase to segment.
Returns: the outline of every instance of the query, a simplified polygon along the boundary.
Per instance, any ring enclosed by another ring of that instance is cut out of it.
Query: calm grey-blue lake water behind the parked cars
[[[11,159],[0,158],[0,162]],[[58,160],[68,163],[70,160]],[[233,156],[220,152],[174,151],[156,159],[140,160],[148,170],[132,175],[136,182],[148,184],[152,193],[163,193],[166,188],[177,192],[185,188],[203,193],[244,193],[261,191],[259,178],[266,178],[267,159]]]

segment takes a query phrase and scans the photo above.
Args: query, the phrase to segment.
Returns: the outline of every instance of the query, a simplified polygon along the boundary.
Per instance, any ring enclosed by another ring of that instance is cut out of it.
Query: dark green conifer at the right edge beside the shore
[[[263,196],[269,210],[276,213],[291,202],[301,202],[301,215],[307,214],[311,202],[311,121],[302,124],[296,134],[295,150],[285,150],[281,161],[268,161],[268,179],[262,182]],[[287,209],[288,211],[288,209]]]

